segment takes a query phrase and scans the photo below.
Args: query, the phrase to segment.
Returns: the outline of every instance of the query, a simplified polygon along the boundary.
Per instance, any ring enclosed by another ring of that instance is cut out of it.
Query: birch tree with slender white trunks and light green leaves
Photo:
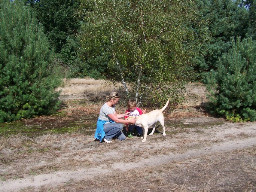
[[[192,2],[81,0],[79,16],[80,59],[87,66],[107,65],[104,75],[123,81],[138,103],[181,102],[197,53]]]

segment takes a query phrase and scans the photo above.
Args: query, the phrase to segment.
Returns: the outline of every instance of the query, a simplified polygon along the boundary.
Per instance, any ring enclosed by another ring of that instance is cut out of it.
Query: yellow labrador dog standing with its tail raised
[[[142,139],[143,139],[142,142],[146,142],[146,138],[147,138],[147,134],[148,134],[148,127],[151,125],[153,127],[153,130],[149,135],[153,135],[154,131],[156,130],[155,124],[157,121],[159,121],[161,126],[163,127],[163,136],[166,136],[164,122],[163,122],[163,110],[165,110],[165,108],[169,104],[169,101],[170,101],[170,99],[168,99],[168,101],[166,102],[164,107],[161,108],[160,110],[156,109],[156,110],[150,111],[148,113],[139,115],[137,117],[130,116],[127,118],[128,120],[136,118],[135,125],[142,127],[143,135],[144,135],[144,136],[142,136]]]

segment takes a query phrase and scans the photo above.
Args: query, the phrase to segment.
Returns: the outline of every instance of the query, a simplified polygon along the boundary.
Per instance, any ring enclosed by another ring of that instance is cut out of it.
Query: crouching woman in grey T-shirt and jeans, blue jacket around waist
[[[125,140],[125,135],[123,132],[121,132],[123,129],[122,123],[134,124],[136,122],[136,119],[120,119],[130,114],[130,112],[125,114],[117,114],[115,105],[118,103],[119,98],[120,96],[117,92],[112,92],[109,96],[106,97],[107,102],[102,105],[99,112],[97,128],[94,135],[96,141],[99,140],[100,142],[105,141],[106,143],[111,143],[110,140],[113,137],[120,141]]]

